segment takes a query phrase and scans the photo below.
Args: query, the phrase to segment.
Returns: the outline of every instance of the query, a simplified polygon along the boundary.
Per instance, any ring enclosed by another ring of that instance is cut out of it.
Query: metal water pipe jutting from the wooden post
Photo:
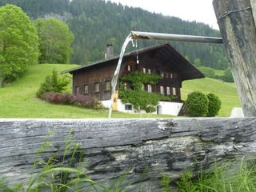
[[[154,39],[162,41],[176,41],[176,42],[203,42],[203,43],[218,43],[222,44],[222,38],[194,36],[185,34],[159,34],[141,31],[131,31],[132,38],[134,39]]]

